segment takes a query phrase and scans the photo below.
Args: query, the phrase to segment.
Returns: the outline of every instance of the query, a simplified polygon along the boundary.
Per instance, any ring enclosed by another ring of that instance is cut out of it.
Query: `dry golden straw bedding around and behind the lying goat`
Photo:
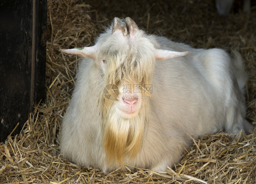
[[[253,2],[252,2],[253,3]],[[248,69],[247,117],[256,122],[256,4],[251,13],[235,2],[227,18],[214,1],[48,1],[46,99],[36,105],[20,135],[0,144],[2,183],[256,183],[256,137],[224,132],[193,140],[181,161],[166,172],[138,169],[104,174],[59,155],[58,133],[75,85],[79,57],[59,48],[93,45],[114,17],[131,17],[139,27],[196,48],[238,50]],[[74,143],[75,144],[75,143]]]

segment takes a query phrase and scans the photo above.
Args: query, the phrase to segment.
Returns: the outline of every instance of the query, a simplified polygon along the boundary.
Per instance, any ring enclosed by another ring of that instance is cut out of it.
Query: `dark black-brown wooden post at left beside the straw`
[[[47,0],[0,2],[0,141],[45,95]]]

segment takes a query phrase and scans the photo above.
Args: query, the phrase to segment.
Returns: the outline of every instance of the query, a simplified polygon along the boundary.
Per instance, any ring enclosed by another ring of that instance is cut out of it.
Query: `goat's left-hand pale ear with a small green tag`
[[[97,45],[84,48],[60,49],[68,54],[76,54],[85,58],[96,59]]]

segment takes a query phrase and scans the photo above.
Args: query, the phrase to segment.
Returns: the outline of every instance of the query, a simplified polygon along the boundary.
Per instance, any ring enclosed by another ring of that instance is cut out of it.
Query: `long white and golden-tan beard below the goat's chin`
[[[146,103],[148,104],[148,103]],[[112,106],[103,119],[102,139],[106,152],[106,161],[124,168],[124,160],[135,158],[146,134],[148,112],[145,103],[141,106],[137,116],[123,118]]]

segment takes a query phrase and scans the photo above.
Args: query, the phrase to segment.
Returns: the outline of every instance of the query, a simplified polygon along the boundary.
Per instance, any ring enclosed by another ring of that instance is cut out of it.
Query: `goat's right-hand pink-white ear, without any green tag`
[[[185,56],[188,54],[187,52],[175,52],[175,51],[168,51],[163,49],[156,49],[155,52],[155,59],[156,60],[166,60],[173,57]]]

